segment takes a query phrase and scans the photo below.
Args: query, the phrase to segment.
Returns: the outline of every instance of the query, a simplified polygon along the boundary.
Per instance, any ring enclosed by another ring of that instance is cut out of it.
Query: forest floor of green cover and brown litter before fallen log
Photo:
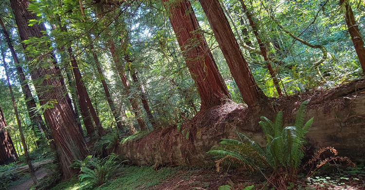
[[[364,168],[332,172],[300,178],[297,184],[290,184],[287,189],[365,190]],[[231,188],[223,190],[271,190],[259,173],[236,170],[218,173],[214,169],[185,167],[168,167],[156,171],[152,167],[136,166],[127,166],[120,176],[93,190],[219,190],[219,187],[224,185]],[[82,190],[82,187],[77,176],[74,176],[51,190]]]

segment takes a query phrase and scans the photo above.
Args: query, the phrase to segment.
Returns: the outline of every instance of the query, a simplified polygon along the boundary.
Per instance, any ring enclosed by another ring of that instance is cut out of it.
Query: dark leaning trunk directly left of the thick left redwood
[[[4,34],[4,37],[6,38],[6,42],[8,44],[8,47],[10,49],[11,55],[13,57],[14,63],[16,65],[18,79],[20,81],[21,85],[21,91],[24,95],[25,99],[25,105],[27,107],[27,111],[29,114],[29,118],[33,125],[37,126],[40,131],[43,131],[46,135],[46,138],[50,142],[50,146],[52,150],[55,150],[55,144],[52,141],[52,134],[49,133],[46,125],[43,122],[42,116],[37,112],[37,104],[36,100],[34,99],[32,92],[30,90],[30,87],[28,85],[27,79],[24,75],[23,69],[21,68],[19,64],[18,56],[14,50],[13,44],[11,43],[11,40],[9,38],[9,34],[6,31],[6,28],[4,26],[4,23],[2,22],[2,19],[0,19],[0,25],[2,28],[2,33]]]

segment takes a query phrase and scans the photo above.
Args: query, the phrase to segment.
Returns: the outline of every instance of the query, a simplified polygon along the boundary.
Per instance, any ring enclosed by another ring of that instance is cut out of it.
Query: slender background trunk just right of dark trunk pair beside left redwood
[[[110,95],[109,88],[108,88],[107,82],[105,81],[105,76],[103,74],[103,71],[101,70],[100,62],[99,62],[99,59],[98,59],[98,57],[96,55],[96,52],[94,50],[93,44],[90,44],[89,47],[90,47],[90,50],[91,50],[91,53],[92,53],[92,57],[94,58],[94,61],[95,61],[95,64],[96,64],[96,69],[98,70],[98,73],[102,78],[101,79],[101,84],[103,85],[103,89],[104,89],[104,92],[105,92],[105,97],[107,98],[111,113],[114,116],[115,122],[117,124],[117,128],[120,129],[121,131],[124,131],[124,129],[123,129],[124,125],[123,125],[123,122],[122,122],[122,118],[120,116],[120,112],[118,112],[118,109],[117,109],[116,105],[114,104],[113,98]]]

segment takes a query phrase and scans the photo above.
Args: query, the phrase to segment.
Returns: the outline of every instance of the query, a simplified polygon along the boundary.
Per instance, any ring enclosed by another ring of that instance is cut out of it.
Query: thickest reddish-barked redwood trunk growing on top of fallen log
[[[219,73],[217,64],[201,33],[198,19],[188,0],[169,4],[162,0],[169,19],[201,97],[201,110],[230,101],[228,89]]]

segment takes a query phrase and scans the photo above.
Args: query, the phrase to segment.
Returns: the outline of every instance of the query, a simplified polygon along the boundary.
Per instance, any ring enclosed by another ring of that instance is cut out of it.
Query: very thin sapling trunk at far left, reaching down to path
[[[5,62],[5,54],[4,54],[4,50],[2,49],[2,45],[1,44],[0,44],[0,51],[1,51],[2,62],[4,63],[3,66],[4,66],[4,70],[5,70],[6,80],[8,82],[8,87],[9,87],[9,91],[10,91],[11,100],[13,101],[15,117],[17,118],[17,123],[18,123],[18,129],[19,129],[21,144],[23,144],[23,147],[24,147],[25,159],[27,161],[27,164],[28,164],[28,167],[29,167],[29,173],[30,173],[30,175],[31,175],[31,177],[33,179],[33,182],[34,182],[34,184],[37,184],[38,182],[37,182],[36,175],[34,173],[34,168],[33,168],[33,165],[32,165],[32,160],[31,160],[31,158],[29,156],[27,144],[25,143],[25,138],[24,138],[23,130],[21,129],[21,122],[20,122],[19,113],[18,113],[18,106],[17,106],[17,103],[15,102],[13,88],[12,88],[11,83],[10,83],[9,72],[8,72],[8,68],[7,68],[6,62]],[[37,143],[36,143],[36,145],[37,145]]]

